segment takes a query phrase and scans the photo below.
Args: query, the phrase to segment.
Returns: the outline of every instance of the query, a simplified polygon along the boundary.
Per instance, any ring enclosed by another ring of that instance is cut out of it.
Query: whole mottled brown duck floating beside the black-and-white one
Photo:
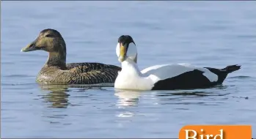
[[[66,64],[66,44],[59,31],[44,29],[34,42],[21,51],[45,50],[49,53],[37,83],[51,84],[97,84],[114,83],[120,67],[101,63]]]

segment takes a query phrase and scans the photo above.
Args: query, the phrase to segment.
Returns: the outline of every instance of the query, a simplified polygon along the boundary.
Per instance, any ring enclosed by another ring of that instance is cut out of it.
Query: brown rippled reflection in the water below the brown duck
[[[68,86],[66,85],[40,85],[40,89],[50,91],[43,95],[45,102],[51,102],[50,108],[67,108],[69,105],[67,94]]]

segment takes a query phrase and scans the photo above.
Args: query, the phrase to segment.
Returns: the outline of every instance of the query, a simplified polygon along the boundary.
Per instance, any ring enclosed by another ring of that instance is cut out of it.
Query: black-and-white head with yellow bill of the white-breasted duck
[[[133,38],[129,35],[122,35],[118,38],[116,53],[120,62],[131,59],[137,63],[137,48]]]

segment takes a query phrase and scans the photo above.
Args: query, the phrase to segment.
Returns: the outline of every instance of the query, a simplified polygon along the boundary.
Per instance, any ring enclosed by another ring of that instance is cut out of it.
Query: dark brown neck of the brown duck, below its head
[[[64,50],[50,52],[45,65],[48,67],[60,67],[64,70],[66,68],[66,52]]]

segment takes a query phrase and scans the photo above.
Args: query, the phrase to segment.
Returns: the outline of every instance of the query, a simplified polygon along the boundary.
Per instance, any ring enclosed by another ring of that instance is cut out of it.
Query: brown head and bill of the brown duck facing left
[[[66,53],[65,41],[59,31],[54,29],[44,29],[40,31],[37,39],[22,48],[22,52],[32,50],[45,50],[49,53]]]

